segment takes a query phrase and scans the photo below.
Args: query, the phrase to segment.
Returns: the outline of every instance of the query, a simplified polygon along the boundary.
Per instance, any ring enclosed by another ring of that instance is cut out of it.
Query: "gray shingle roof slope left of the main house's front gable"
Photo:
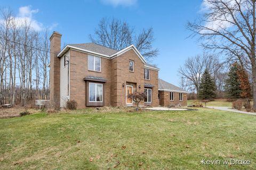
[[[77,47],[77,48],[90,50],[91,52],[108,55],[108,56],[113,55],[117,52],[117,50],[115,50],[115,49],[111,49],[111,48],[104,47],[104,46],[94,44],[94,43],[69,44],[69,45],[73,46],[73,47]]]

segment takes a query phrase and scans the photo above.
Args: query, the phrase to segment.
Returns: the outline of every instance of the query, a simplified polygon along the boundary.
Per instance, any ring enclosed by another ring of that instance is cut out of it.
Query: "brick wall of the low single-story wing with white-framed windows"
[[[174,92],[174,100],[170,100],[170,91],[159,91],[159,103],[161,106],[175,106],[181,104],[181,106],[187,106],[187,94],[183,94],[182,101],[179,101],[179,92]]]

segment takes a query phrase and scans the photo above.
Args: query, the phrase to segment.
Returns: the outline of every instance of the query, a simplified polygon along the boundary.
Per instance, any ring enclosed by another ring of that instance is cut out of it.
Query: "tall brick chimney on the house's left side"
[[[50,102],[55,108],[60,107],[60,58],[61,34],[53,31],[50,37]]]

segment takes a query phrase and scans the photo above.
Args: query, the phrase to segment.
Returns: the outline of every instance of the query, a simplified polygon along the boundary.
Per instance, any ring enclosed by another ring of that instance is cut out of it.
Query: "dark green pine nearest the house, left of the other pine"
[[[198,89],[198,98],[201,100],[212,100],[216,97],[215,83],[211,74],[206,69],[202,75]]]

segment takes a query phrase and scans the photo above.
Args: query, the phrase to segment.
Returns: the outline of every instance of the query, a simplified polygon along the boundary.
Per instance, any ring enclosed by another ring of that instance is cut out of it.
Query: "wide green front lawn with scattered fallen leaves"
[[[255,122],[207,108],[2,119],[0,169],[253,169]],[[251,164],[201,163],[231,158]]]

